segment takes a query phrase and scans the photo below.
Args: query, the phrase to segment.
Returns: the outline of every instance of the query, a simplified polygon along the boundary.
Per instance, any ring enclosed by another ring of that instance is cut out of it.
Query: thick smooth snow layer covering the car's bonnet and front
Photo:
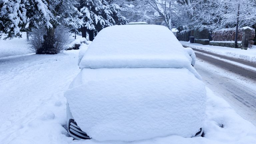
[[[83,69],[75,81],[65,97],[95,140],[192,137],[203,126],[205,86],[188,69]]]

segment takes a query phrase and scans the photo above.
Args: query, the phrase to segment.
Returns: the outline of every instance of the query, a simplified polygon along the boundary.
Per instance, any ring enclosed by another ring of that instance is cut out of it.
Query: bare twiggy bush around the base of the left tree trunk
[[[47,34],[47,29],[44,26],[32,29],[30,44],[36,54],[57,54],[65,49],[69,39],[69,30],[66,27],[58,26],[54,30],[54,38]]]

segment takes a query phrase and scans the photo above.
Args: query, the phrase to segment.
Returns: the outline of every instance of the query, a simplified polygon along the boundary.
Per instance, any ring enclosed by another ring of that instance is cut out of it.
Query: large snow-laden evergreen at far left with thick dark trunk
[[[38,28],[44,26],[47,32],[44,36],[41,53],[56,53],[51,51],[56,43],[55,29],[58,25],[71,26],[78,29],[82,14],[75,8],[76,0],[1,0],[0,27],[8,37],[19,35],[20,29]]]

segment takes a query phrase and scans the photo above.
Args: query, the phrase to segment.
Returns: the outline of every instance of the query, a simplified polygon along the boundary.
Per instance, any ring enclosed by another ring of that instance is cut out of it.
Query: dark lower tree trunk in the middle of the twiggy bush
[[[60,51],[54,47],[56,42],[55,38],[55,28],[50,28],[47,30],[46,35],[44,35],[44,42],[42,43],[42,48],[37,50],[37,54],[57,54]]]

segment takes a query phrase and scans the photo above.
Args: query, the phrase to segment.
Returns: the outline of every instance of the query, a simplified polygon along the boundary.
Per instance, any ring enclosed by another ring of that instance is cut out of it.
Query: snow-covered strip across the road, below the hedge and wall
[[[202,44],[190,43],[186,41],[180,41],[180,43],[186,47],[205,50],[208,52],[213,52],[216,54],[238,58],[246,61],[256,62],[256,45],[253,45],[252,48],[248,48],[247,50],[243,50],[239,48],[236,49],[236,48],[230,48],[230,47],[202,45]]]

